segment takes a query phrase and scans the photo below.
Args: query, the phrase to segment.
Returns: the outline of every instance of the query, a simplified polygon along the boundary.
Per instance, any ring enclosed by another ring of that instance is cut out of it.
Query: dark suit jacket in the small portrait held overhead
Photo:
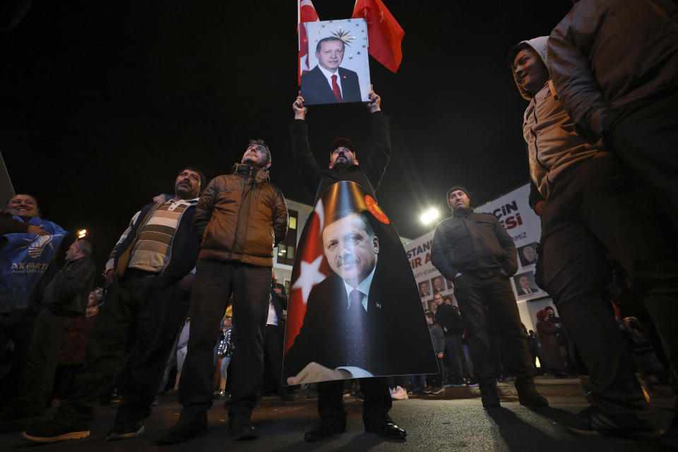
[[[341,98],[344,102],[360,102],[358,74],[350,69],[338,68],[341,84]],[[335,104],[337,98],[320,68],[316,65],[302,76],[302,97],[304,105]]]

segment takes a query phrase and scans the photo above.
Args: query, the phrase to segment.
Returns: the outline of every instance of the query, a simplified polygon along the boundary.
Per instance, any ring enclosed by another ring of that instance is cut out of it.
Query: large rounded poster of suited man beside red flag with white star
[[[285,381],[436,372],[419,290],[396,230],[358,184],[332,185],[309,216],[292,268]]]

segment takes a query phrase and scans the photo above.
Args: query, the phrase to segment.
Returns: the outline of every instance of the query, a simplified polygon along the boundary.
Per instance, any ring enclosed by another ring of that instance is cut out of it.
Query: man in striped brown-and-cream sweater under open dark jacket
[[[106,439],[143,433],[189,307],[191,271],[199,248],[194,215],[204,184],[199,169],[184,167],[174,179],[174,195],[155,196],[133,216],[106,263],[108,292],[90,337],[86,364],[54,420],[27,429],[23,438],[54,442],[89,436],[95,406],[118,378],[130,338],[132,349],[118,380],[124,401]]]

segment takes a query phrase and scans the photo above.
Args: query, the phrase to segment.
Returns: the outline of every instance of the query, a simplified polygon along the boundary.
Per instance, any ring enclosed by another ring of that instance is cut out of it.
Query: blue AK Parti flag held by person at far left
[[[20,220],[15,216],[17,220]],[[23,309],[38,280],[52,262],[61,241],[69,233],[57,223],[33,217],[31,225],[49,235],[5,234],[7,244],[0,249],[0,312]]]

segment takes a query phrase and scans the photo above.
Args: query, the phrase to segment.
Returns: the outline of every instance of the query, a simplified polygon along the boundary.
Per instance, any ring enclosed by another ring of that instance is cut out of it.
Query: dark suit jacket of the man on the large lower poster
[[[410,287],[410,280],[387,265],[377,263],[369,288],[369,364],[365,370],[375,376],[436,373],[437,362],[430,353],[431,338],[416,287]],[[398,281],[407,281],[410,290]],[[410,292],[411,297],[407,297]],[[330,369],[347,365],[344,342],[347,306],[343,280],[334,273],[311,290],[304,323],[283,361],[285,378],[295,376],[309,362]]]

